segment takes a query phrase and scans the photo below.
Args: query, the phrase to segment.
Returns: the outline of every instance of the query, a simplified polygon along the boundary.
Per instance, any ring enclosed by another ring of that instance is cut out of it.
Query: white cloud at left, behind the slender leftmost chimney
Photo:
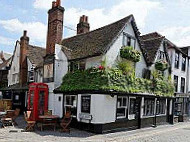
[[[28,31],[32,42],[45,43],[47,26],[40,22],[22,23],[18,19],[0,20],[0,25],[9,32],[22,34],[23,30]]]

